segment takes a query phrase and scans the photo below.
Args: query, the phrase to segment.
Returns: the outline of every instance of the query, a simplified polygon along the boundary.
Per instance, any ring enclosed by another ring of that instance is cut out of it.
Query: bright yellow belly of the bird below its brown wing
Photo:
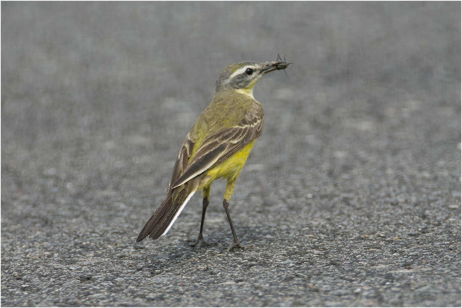
[[[244,163],[249,157],[250,151],[255,144],[255,140],[246,145],[241,151],[226,159],[223,163],[220,163],[207,171],[207,175],[211,178],[207,183],[210,183],[219,178],[236,180],[241,173]]]

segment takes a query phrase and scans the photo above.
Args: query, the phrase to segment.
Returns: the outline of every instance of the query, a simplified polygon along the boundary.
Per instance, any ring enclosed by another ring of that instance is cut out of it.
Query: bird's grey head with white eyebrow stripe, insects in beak
[[[285,69],[286,61],[265,63],[238,62],[226,67],[216,82],[216,91],[231,89],[253,97],[253,90],[258,79],[268,72]]]

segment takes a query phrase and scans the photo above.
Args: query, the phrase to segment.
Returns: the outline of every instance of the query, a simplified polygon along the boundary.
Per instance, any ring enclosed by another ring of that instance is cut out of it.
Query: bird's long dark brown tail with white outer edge
[[[167,233],[175,222],[176,217],[180,215],[184,206],[196,192],[196,189],[197,181],[193,179],[182,186],[169,190],[167,198],[165,198],[164,202],[162,202],[143,229],[141,229],[136,242],[140,242],[146,236],[155,240]]]

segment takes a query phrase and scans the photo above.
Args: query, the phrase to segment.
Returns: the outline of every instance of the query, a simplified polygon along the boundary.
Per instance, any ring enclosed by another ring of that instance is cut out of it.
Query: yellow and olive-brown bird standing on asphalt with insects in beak
[[[141,229],[136,242],[165,235],[189,199],[202,189],[202,219],[199,236],[190,246],[212,245],[202,234],[214,180],[226,179],[223,207],[231,226],[233,241],[227,247],[253,247],[239,242],[228,210],[237,177],[255,140],[263,130],[263,108],[255,100],[256,82],[268,72],[285,69],[286,60],[264,63],[242,61],[227,66],[215,84],[212,102],[201,113],[186,136],[173,167],[167,197]]]

